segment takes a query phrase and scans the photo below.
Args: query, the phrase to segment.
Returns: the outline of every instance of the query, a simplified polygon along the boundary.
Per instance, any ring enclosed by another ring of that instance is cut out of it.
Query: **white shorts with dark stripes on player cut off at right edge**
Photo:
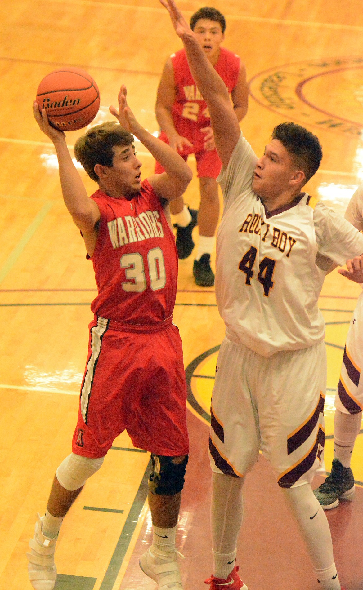
[[[351,319],[344,348],[335,407],[343,414],[359,414],[363,408],[363,291]]]

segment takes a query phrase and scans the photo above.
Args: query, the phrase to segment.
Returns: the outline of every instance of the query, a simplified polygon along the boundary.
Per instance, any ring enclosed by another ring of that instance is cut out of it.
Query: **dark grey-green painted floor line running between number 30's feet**
[[[133,532],[135,531],[136,525],[138,524],[140,512],[142,511],[145,500],[148,497],[148,479],[151,468],[152,464],[150,459],[148,465],[146,466],[145,473],[143,474],[139,489],[136,492],[130,512],[127,515],[125,525],[123,525],[121,535],[117,541],[117,545],[115,551],[113,552],[109,566],[106,570],[106,573],[104,574],[102,584],[100,585],[100,590],[112,590],[116,578],[119,575],[123,559],[125,558],[126,551],[130,545],[130,540],[132,538]]]

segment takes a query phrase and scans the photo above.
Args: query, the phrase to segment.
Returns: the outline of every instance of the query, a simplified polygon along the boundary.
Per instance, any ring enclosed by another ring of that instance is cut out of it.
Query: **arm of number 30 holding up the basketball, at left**
[[[93,199],[87,196],[82,179],[74,166],[66,144],[63,131],[54,129],[45,109],[39,112],[38,104],[33,103],[33,113],[40,129],[53,142],[59,163],[59,176],[63,199],[74,223],[84,234],[96,233],[95,226],[100,219],[100,211]]]

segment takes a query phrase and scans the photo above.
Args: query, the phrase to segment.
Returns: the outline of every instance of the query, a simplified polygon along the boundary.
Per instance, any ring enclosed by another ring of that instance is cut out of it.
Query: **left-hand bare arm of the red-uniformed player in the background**
[[[192,148],[192,144],[187,137],[182,137],[175,129],[171,114],[174,101],[174,69],[171,58],[169,58],[168,61],[166,61],[159,82],[158,94],[156,95],[155,115],[161,130],[168,136],[169,146],[176,151],[181,151],[184,146]]]

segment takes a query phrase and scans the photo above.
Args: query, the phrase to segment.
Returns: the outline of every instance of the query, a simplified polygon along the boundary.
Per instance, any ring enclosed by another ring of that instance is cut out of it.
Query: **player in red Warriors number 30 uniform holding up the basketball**
[[[44,517],[38,515],[27,553],[36,590],[52,590],[61,522],[87,478],[101,467],[113,440],[127,430],[135,447],[151,451],[149,507],[153,544],[140,567],[159,588],[182,588],[175,532],[188,462],[186,385],[178,328],[172,324],[178,257],[168,202],[192,173],[168,145],[136,121],[119,93],[122,127],[107,122],[77,140],[74,152],[99,190],[87,197],[63,132],[34,116],[54,143],[64,202],[93,262],[98,295],[91,304],[89,353],[81,386],[72,453],[61,463]],[[134,134],[165,169],[141,182]]]

